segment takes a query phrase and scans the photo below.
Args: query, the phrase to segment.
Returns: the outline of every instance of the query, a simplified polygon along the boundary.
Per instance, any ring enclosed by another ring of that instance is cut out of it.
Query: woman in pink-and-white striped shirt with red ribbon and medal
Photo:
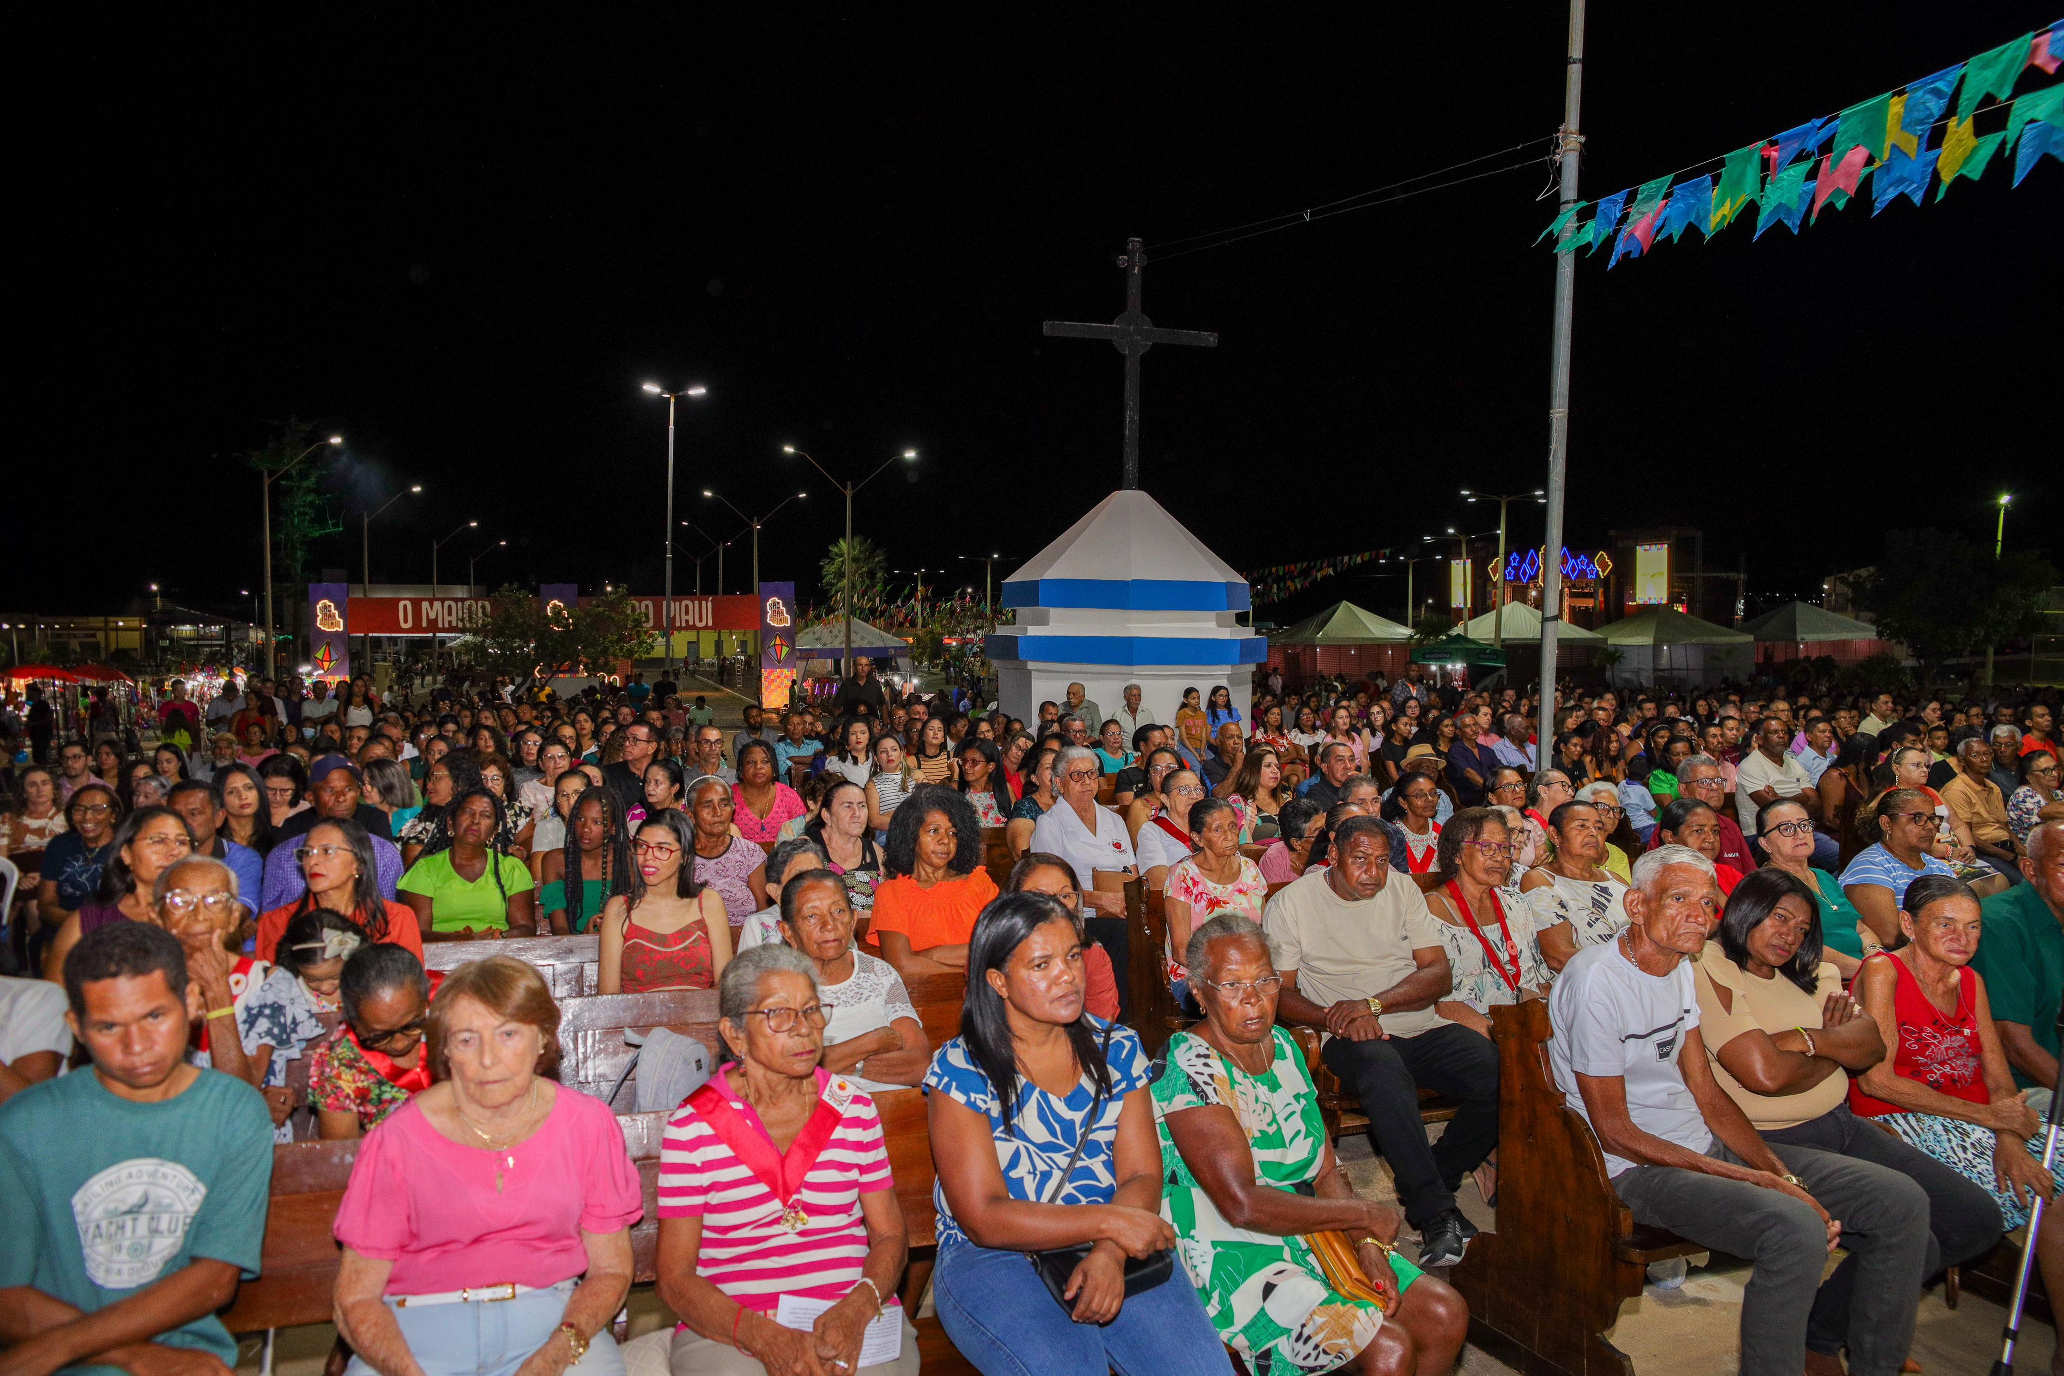
[[[896,1279],[908,1256],[875,1104],[819,1069],[815,965],[793,947],[739,953],[716,986],[739,1058],[667,1122],[658,1293],[681,1316],[673,1376],[826,1370],[854,1376],[877,1318],[916,1376]]]

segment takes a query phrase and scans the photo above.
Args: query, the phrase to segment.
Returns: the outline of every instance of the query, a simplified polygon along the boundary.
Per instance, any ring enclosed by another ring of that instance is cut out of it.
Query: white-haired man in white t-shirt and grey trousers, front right
[[[1843,1347],[1851,1372],[1895,1376],[1938,1265],[1928,1194],[1884,1166],[1765,1143],[1713,1079],[1692,988],[1719,918],[1711,860],[1688,846],[1643,854],[1626,916],[1548,996],[1556,1087],[1598,1133],[1614,1192],[1635,1221],[1754,1263],[1742,1376],[1839,1372]],[[1837,1242],[1849,1256],[1823,1285]]]

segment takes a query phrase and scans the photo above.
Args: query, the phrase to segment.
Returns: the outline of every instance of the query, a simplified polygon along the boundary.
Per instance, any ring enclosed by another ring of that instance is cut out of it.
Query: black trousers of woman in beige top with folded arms
[[[1789,1128],[1775,1128],[1763,1141],[1779,1147],[1812,1147],[1835,1151],[1858,1161],[1897,1170],[1913,1180],[1928,1194],[1928,1265],[1924,1281],[1932,1281],[1944,1267],[1961,1267],[1984,1256],[2006,1232],[2000,1207],[1992,1194],[1977,1188],[1961,1174],[1934,1159],[1926,1151],[1909,1147],[1868,1118],[1858,1118],[1847,1104],[1800,1122]],[[1847,1256],[1835,1275],[1827,1277],[1814,1298],[1812,1316],[1806,1320],[1806,1345],[1814,1351],[1839,1351],[1845,1335],[1849,1296],[1856,1289],[1856,1256]]]

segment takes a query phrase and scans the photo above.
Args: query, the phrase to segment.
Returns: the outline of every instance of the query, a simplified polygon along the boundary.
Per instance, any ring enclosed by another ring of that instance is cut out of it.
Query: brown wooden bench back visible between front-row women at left
[[[910,1236],[910,1267],[898,1293],[912,1324],[916,1324],[925,1370],[972,1376],[974,1368],[939,1329],[939,1320],[916,1318],[937,1252],[925,1095],[916,1089],[896,1089],[875,1095],[875,1108],[881,1114],[890,1168],[896,1174],[896,1201],[902,1205]],[[644,1190],[644,1217],[632,1227],[632,1279],[638,1285],[650,1285],[658,1279],[658,1157],[667,1118],[665,1112],[617,1114],[623,1143],[638,1166],[638,1182]],[[246,1281],[237,1289],[235,1302],[223,1312],[223,1324],[231,1333],[330,1322],[341,1265],[330,1230],[345,1186],[351,1182],[357,1153],[359,1141],[297,1143],[272,1149],[272,1194],[266,1203],[260,1275],[256,1281]],[[623,1337],[621,1324],[617,1337]]]

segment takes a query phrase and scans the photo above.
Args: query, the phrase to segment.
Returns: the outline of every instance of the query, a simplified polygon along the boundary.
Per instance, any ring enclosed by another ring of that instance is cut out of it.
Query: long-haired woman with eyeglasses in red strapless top
[[[596,992],[716,988],[731,959],[731,920],[714,885],[698,883],[696,838],[667,809],[632,833],[632,887],[603,908]]]

